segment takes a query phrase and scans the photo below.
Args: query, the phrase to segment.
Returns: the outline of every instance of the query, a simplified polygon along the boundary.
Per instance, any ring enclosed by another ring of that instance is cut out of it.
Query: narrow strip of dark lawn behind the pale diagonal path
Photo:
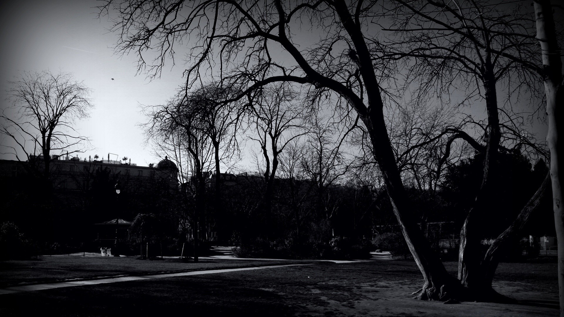
[[[96,278],[98,276],[143,275],[156,272],[211,270],[299,261],[244,261],[237,259],[200,259],[182,262],[180,259],[138,260],[135,257],[40,256],[30,261],[0,261],[0,287],[19,283]]]

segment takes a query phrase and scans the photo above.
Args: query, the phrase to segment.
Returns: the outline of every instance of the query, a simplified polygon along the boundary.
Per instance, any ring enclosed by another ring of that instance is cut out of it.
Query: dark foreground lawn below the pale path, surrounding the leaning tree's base
[[[121,259],[126,258],[116,258]],[[456,270],[455,262],[447,262],[446,266],[450,271]],[[501,263],[497,273],[496,289],[521,301],[519,304],[445,305],[413,300],[411,292],[422,283],[415,263],[368,261],[325,262],[7,294],[0,296],[0,315],[37,312],[94,316],[558,315],[556,263]]]

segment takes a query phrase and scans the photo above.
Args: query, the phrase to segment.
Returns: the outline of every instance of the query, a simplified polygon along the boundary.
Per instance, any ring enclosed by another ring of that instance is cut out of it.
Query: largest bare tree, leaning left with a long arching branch
[[[325,98],[342,100],[338,105],[358,115],[395,217],[423,275],[424,285],[417,297],[460,296],[460,281],[448,274],[417,226],[390,140],[385,110],[386,105],[393,107],[395,104],[391,101],[391,90],[386,88],[393,88],[390,83],[394,83],[398,69],[393,59],[382,59],[382,33],[372,22],[393,12],[385,12],[376,1],[363,0],[108,0],[101,10],[102,14],[112,15],[115,21],[114,31],[120,34],[117,50],[136,52],[139,70],[148,71],[149,76],[158,76],[166,58],[174,56],[175,43],[190,39],[185,56],[187,86],[213,74],[225,82],[246,87],[241,98],[273,82],[293,82],[314,91],[310,94],[314,103]],[[459,21],[464,24],[465,19]],[[480,25],[473,27],[480,28]],[[463,25],[453,32],[465,32],[468,28]],[[308,33],[310,37],[305,36]],[[471,138],[468,142],[478,151],[486,152],[488,160],[493,161],[501,134],[497,96],[493,93],[495,82],[491,81],[496,74],[488,67],[488,59],[493,58],[491,50],[486,49],[489,57],[483,58],[483,65],[475,65],[479,72],[488,76],[484,82],[488,116],[491,115],[487,143],[484,147]],[[146,63],[151,60],[151,54],[155,59]],[[464,131],[451,130],[439,137],[447,133],[465,140],[468,137]],[[485,182],[483,186],[490,184]],[[477,223],[473,218],[472,223]],[[476,226],[466,227],[472,235]],[[475,236],[472,237],[470,245],[475,246]],[[474,298],[479,295],[479,291],[472,294]]]

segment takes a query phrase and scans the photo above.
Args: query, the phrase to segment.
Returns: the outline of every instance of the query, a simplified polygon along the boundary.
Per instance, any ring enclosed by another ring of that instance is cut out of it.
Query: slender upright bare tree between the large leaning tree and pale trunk
[[[399,39],[393,41],[401,45],[384,54],[415,58],[417,62],[411,63],[409,69],[413,78],[424,81],[420,89],[436,90],[440,96],[450,95],[455,85],[470,87],[469,94],[478,94],[485,102],[485,124],[470,120],[483,129],[481,139],[485,144],[479,140],[469,144],[484,153],[484,164],[481,187],[461,230],[458,278],[462,285],[479,289],[476,293],[480,296],[497,296],[491,289],[491,279],[486,278],[490,263],[480,252],[483,218],[496,212],[491,208],[491,201],[496,192],[492,184],[496,178],[497,153],[522,147],[539,149],[528,134],[522,133],[522,126],[515,118],[518,116],[510,113],[512,109],[500,105],[498,93],[498,86],[505,82],[510,91],[507,100],[511,94],[528,93],[533,100],[538,97],[536,72],[531,71],[536,68],[537,49],[534,37],[529,35],[533,29],[530,15],[521,13],[520,6],[499,10],[489,2],[479,1],[396,2],[399,3],[394,8],[398,10],[397,17],[393,27],[386,30],[398,34]],[[448,127],[443,131],[452,135],[447,148],[453,139],[464,135],[460,128]]]

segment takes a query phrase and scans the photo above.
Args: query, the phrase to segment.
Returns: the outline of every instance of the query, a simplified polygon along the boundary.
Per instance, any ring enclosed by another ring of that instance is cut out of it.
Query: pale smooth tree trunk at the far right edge
[[[563,137],[562,120],[562,60],[556,39],[556,29],[552,16],[552,8],[548,0],[535,0],[536,37],[539,39],[543,54],[541,75],[544,91],[547,96],[548,134],[547,143],[550,149],[550,180],[552,183],[552,201],[554,225],[558,245],[558,289],[560,298],[560,316],[564,316],[564,197],[562,195],[559,169],[564,160],[564,149],[558,144]],[[557,100],[561,100],[557,102]]]

